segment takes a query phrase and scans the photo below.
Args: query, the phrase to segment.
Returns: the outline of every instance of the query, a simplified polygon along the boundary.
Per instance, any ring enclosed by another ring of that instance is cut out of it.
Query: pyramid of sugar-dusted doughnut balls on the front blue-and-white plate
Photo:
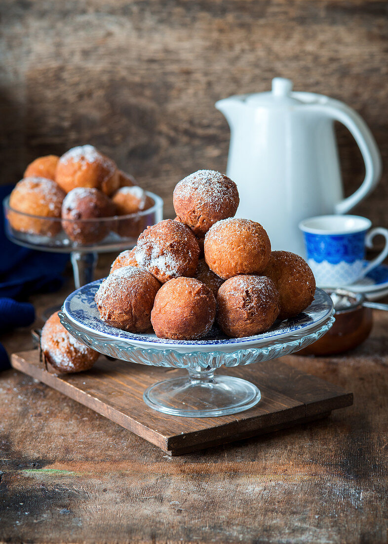
[[[308,264],[272,251],[262,225],[235,219],[236,184],[199,170],[174,189],[176,218],[148,227],[120,253],[96,293],[100,318],[159,338],[205,337],[217,322],[230,337],[265,332],[313,301]]]

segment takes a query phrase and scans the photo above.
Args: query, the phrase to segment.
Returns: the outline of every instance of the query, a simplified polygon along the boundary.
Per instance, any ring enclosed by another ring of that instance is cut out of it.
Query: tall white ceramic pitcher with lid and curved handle
[[[236,95],[215,107],[231,127],[227,175],[237,183],[237,217],[260,222],[272,249],[304,255],[298,223],[346,213],[377,185],[381,158],[371,131],[346,104],[312,92],[292,92],[276,77],[272,91]],[[344,199],[334,121],[352,133],[365,161],[365,180]]]

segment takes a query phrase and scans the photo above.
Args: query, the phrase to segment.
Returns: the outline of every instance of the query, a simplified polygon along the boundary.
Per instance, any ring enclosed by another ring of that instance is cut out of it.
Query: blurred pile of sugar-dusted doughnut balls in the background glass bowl
[[[9,206],[8,219],[16,231],[53,237],[63,228],[77,244],[96,244],[111,230],[136,238],[145,227],[143,218],[118,219],[136,216],[154,206],[154,200],[113,160],[83,145],[62,157],[35,159],[12,190]],[[113,217],[116,220],[104,219]]]

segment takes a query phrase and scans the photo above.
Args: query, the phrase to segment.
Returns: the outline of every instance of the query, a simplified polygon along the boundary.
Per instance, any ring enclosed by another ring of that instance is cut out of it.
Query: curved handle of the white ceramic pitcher
[[[361,186],[351,196],[335,205],[335,213],[347,213],[377,186],[381,175],[381,156],[376,140],[365,121],[352,108],[339,100],[327,98],[318,106],[326,115],[340,121],[351,132],[360,148],[365,163],[365,178]]]

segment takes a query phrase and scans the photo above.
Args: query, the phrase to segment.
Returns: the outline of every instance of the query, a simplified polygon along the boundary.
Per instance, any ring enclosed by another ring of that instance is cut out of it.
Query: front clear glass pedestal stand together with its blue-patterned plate
[[[186,376],[148,387],[143,395],[148,406],[173,416],[225,416],[255,406],[260,400],[255,385],[234,376],[214,375],[215,370],[294,353],[323,336],[334,322],[332,299],[316,289],[315,299],[305,312],[276,322],[261,335],[227,338],[214,327],[203,340],[166,340],[154,333],[116,329],[101,321],[94,302],[101,281],[67,297],[59,314],[62,325],[81,342],[110,357],[188,370]]]

